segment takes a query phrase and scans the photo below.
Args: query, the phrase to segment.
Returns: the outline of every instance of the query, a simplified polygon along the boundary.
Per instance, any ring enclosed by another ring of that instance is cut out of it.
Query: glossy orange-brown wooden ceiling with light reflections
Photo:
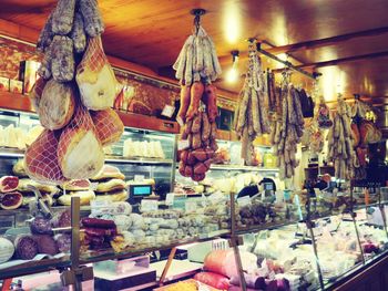
[[[40,30],[55,2],[1,0],[0,19]],[[245,51],[245,40],[252,37],[282,46],[380,29],[366,33],[374,35],[303,48],[290,55],[302,64],[364,55],[316,69],[323,73],[319,83],[325,98],[335,98],[340,87],[346,96],[359,93],[376,104],[388,103],[388,29],[384,29],[388,28],[387,0],[100,0],[99,4],[106,25],[105,51],[165,75],[172,75],[171,64],[191,33],[193,8],[207,10],[202,23],[215,41],[224,71],[231,66],[231,51]],[[385,53],[370,58],[377,52]],[[300,64],[293,58],[289,61]],[[242,72],[244,66],[243,61]],[[241,82],[222,81],[217,85],[233,92],[241,89]]]

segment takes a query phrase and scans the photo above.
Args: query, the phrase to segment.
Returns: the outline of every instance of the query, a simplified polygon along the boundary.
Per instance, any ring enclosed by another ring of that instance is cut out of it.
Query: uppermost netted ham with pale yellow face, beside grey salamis
[[[102,49],[100,37],[90,39],[76,69],[81,100],[89,110],[106,110],[116,96],[116,79]]]

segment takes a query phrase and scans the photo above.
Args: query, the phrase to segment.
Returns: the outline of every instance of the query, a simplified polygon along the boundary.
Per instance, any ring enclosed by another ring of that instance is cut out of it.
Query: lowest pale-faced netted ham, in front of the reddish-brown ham
[[[58,160],[64,177],[69,179],[93,177],[104,164],[104,153],[93,121],[81,104],[61,134]]]

